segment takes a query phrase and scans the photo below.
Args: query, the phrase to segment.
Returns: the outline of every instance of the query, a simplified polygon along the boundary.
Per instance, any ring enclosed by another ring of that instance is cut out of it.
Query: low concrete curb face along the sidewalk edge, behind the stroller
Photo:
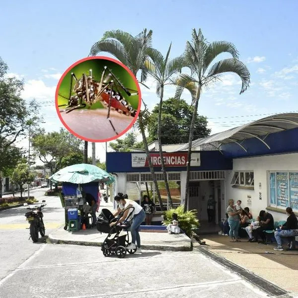
[[[102,242],[92,242],[92,241],[74,241],[74,240],[61,240],[51,236],[48,237],[48,241],[52,244],[71,244],[71,245],[81,245],[81,246],[101,246]],[[189,246],[170,246],[170,245],[154,245],[154,244],[142,244],[142,249],[146,250],[170,250],[170,251],[192,251],[193,245],[190,243]]]

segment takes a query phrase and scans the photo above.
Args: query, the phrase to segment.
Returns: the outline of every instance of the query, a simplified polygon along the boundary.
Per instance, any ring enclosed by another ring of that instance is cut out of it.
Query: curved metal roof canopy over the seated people
[[[220,149],[220,147],[218,147],[219,145],[236,143],[246,151],[239,142],[250,138],[256,138],[270,149],[265,141],[268,134],[286,131],[293,128],[298,128],[298,113],[277,114],[193,141],[192,147],[198,147],[204,144],[214,144],[214,147]],[[185,149],[188,149],[188,143],[175,151]]]

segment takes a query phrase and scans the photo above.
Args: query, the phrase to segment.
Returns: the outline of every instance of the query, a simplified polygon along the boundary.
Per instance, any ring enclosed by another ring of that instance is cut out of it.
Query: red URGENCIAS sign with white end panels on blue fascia
[[[153,166],[161,166],[159,153],[150,153]],[[165,166],[187,166],[187,152],[163,153]],[[191,166],[200,166],[200,153],[191,153]],[[148,167],[149,161],[146,153],[132,153],[132,167]]]

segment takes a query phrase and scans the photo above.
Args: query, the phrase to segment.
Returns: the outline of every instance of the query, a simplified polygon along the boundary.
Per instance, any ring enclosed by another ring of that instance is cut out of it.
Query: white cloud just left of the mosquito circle
[[[46,86],[42,80],[30,79],[25,82],[22,97],[24,99],[49,99],[54,102],[56,86]]]

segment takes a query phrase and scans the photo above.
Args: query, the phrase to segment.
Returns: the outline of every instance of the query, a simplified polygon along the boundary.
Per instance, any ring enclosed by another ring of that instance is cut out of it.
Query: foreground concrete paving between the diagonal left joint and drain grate
[[[105,258],[98,247],[41,244],[0,282],[0,297],[266,297],[194,252]]]

